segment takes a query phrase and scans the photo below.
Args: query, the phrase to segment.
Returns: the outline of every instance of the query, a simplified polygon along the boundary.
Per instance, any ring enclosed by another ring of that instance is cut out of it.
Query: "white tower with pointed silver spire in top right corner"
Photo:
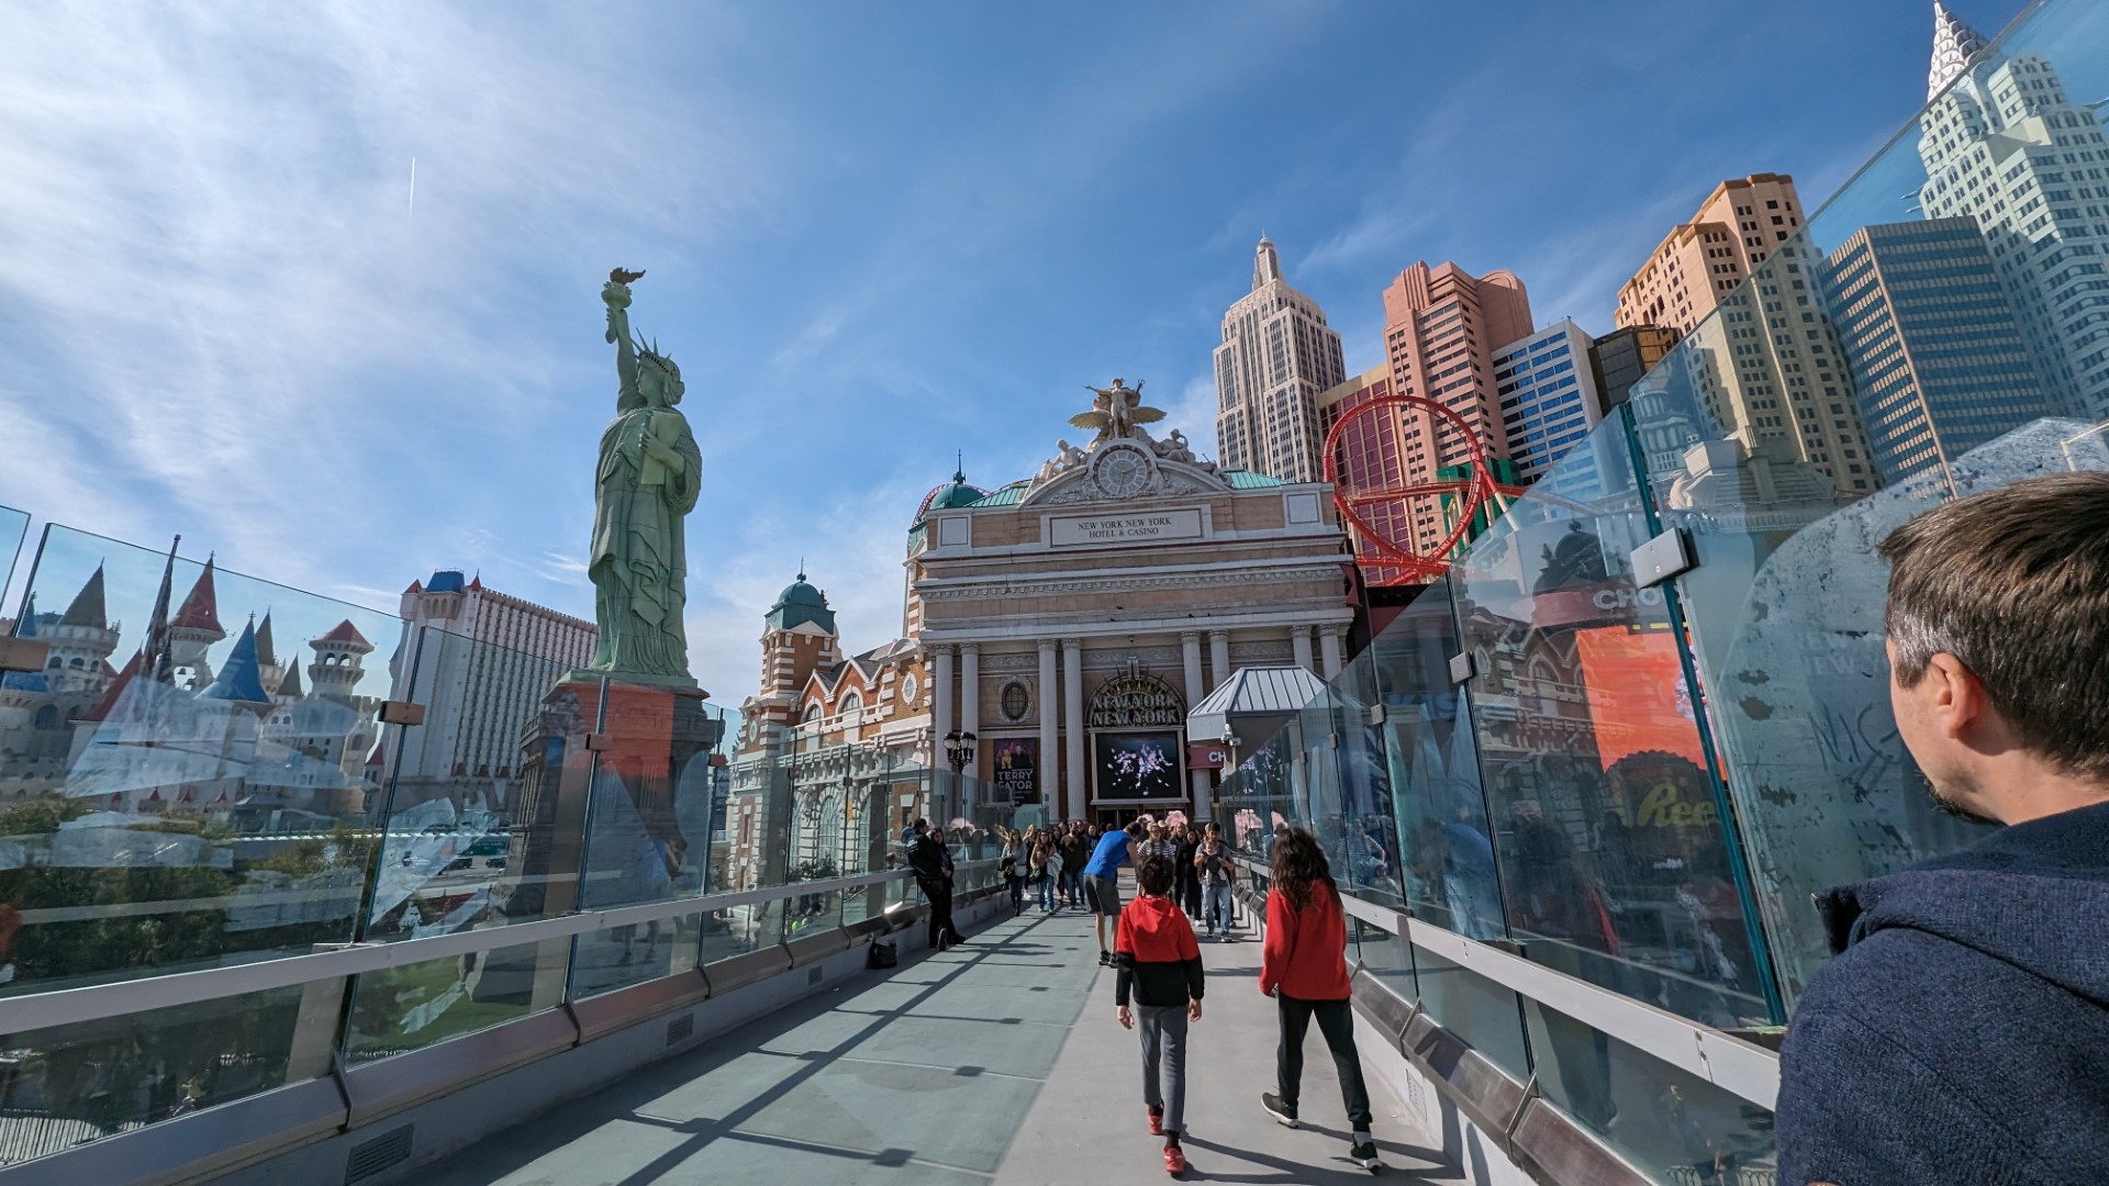
[[[2039,53],[1989,55],[1934,4],[1919,114],[1928,219],[1974,217],[2037,374],[2067,412],[2109,420],[2109,139]]]

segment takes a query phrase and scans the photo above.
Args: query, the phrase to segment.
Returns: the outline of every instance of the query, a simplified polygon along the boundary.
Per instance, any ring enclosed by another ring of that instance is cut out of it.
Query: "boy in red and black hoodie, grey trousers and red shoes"
[[[1135,869],[1141,895],[1120,912],[1114,929],[1116,1017],[1143,1038],[1143,1104],[1149,1131],[1164,1137],[1164,1171],[1185,1173],[1179,1125],[1185,1118],[1185,1034],[1200,1021],[1206,979],[1194,924],[1168,897],[1179,872],[1168,857],[1149,857]],[[1135,1009],[1128,1009],[1128,996]]]

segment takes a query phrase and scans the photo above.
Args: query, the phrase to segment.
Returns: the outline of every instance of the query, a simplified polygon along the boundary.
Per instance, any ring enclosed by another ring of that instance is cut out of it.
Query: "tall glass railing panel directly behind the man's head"
[[[1921,791],[1890,715],[1877,544],[1913,513],[2103,468],[2094,314],[2109,156],[2094,6],[2033,6],[1632,395],[1782,1000],[1829,958],[1812,893],[1982,836]],[[1989,103],[2016,89],[2012,110]],[[1997,158],[1997,167],[1993,160]]]

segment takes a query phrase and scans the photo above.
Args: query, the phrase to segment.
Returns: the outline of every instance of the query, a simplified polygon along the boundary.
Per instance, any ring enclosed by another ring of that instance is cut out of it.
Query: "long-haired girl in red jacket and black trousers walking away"
[[[1278,1091],[1259,1097],[1276,1121],[1297,1127],[1297,1089],[1303,1083],[1303,1034],[1312,1017],[1333,1051],[1339,1093],[1348,1102],[1354,1148],[1348,1156],[1375,1173],[1377,1142],[1369,1135],[1369,1087],[1354,1051],[1354,1011],[1348,1007],[1348,922],[1339,888],[1318,840],[1301,827],[1274,842],[1274,884],[1268,888],[1268,943],[1259,964],[1259,992],[1280,1002],[1282,1045],[1276,1051]]]

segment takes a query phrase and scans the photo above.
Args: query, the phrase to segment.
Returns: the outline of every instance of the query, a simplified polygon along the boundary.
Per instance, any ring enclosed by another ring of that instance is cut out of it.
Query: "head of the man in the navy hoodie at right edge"
[[[1942,502],[1881,555],[1890,703],[1934,802],[2020,823],[2109,798],[2109,473]]]

